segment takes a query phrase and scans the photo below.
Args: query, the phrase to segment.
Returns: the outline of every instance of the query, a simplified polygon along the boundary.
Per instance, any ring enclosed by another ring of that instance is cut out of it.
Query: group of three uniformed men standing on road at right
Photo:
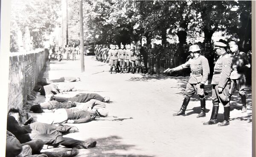
[[[217,115],[219,103],[224,106],[224,121],[218,126],[227,126],[230,124],[230,99],[235,88],[239,91],[242,103],[242,112],[247,112],[246,95],[244,89],[247,88],[245,71],[250,69],[250,63],[247,54],[239,51],[236,41],[229,42],[230,54],[227,53],[227,45],[222,42],[214,43],[214,50],[218,55],[215,61],[214,72],[212,76],[212,114],[208,122],[204,125],[217,124]],[[186,108],[190,98],[196,93],[200,99],[201,112],[199,117],[205,117],[205,94],[204,84],[208,80],[209,63],[206,57],[201,55],[201,49],[198,45],[189,47],[190,59],[173,69],[166,69],[166,72],[179,71],[190,67],[191,73],[185,90],[185,98],[180,111],[173,116],[185,116]]]

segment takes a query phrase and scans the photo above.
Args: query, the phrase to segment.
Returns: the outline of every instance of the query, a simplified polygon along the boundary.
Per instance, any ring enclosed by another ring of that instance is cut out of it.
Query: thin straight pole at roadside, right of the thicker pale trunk
[[[83,23],[83,1],[79,0],[79,22],[80,22],[80,60],[81,72],[84,72],[84,23]]]

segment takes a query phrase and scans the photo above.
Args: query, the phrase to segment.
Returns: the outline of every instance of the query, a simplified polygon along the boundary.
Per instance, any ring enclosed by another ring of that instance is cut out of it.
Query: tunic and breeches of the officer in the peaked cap
[[[232,59],[225,52],[215,63],[214,72],[212,76],[212,103],[217,105],[217,102],[229,101],[230,89],[230,73],[231,73]],[[218,87],[224,88],[222,93],[218,93]]]

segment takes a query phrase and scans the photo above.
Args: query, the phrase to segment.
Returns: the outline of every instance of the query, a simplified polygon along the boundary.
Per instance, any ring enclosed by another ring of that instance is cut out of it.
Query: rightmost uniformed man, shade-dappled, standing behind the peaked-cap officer
[[[230,74],[231,88],[229,94],[231,97],[235,88],[237,88],[243,105],[242,112],[244,113],[247,111],[246,96],[244,93],[244,89],[247,88],[245,72],[250,69],[250,63],[246,53],[239,51],[238,44],[235,41],[230,41],[229,46],[232,53],[230,57],[233,61],[232,72]]]

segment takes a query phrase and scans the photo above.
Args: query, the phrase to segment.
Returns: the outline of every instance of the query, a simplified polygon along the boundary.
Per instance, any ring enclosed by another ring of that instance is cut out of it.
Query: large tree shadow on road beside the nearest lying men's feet
[[[88,141],[97,141],[97,146],[95,148],[88,149],[88,154],[90,157],[154,157],[147,155],[137,155],[137,154],[118,154],[116,151],[121,150],[128,151],[134,148],[135,145],[128,145],[121,143],[121,137],[109,136],[104,138],[91,138]],[[79,155],[78,155],[79,156]]]

